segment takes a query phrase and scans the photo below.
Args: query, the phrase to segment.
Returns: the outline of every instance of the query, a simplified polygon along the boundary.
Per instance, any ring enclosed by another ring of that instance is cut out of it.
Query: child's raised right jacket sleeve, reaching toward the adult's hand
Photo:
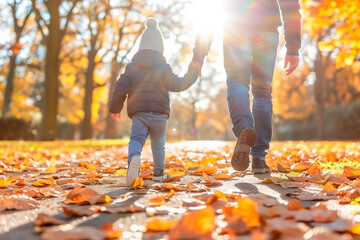
[[[168,65],[168,72],[165,78],[165,86],[171,92],[181,92],[193,85],[199,76],[199,66],[196,63],[191,62],[187,73],[183,77],[178,77],[171,70]]]

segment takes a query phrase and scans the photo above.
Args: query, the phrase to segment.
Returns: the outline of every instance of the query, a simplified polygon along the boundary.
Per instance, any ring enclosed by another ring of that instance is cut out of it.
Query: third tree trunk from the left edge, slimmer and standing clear
[[[95,71],[95,56],[96,51],[94,48],[90,50],[88,55],[88,69],[86,71],[85,79],[85,98],[83,103],[84,119],[81,126],[81,139],[92,138],[91,114],[92,114],[92,101],[94,90],[94,71]]]

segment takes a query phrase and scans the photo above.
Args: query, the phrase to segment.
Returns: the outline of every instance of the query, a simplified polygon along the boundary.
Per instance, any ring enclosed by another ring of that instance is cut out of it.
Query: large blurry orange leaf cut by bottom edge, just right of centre
[[[169,232],[169,239],[211,239],[215,218],[212,207],[187,212]]]

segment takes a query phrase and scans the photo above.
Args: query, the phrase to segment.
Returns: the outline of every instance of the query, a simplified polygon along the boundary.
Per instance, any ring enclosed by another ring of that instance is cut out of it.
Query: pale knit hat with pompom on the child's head
[[[139,50],[150,49],[164,51],[164,41],[156,18],[149,17],[145,22],[145,30],[141,35]]]

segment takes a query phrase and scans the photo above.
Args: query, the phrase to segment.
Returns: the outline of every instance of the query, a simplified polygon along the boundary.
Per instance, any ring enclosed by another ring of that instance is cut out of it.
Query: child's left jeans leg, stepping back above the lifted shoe
[[[139,157],[141,156],[142,148],[146,142],[146,138],[149,133],[149,129],[148,129],[149,122],[150,119],[149,117],[146,116],[146,113],[135,114],[132,118],[129,152],[128,152],[129,164],[134,156],[139,156]]]

